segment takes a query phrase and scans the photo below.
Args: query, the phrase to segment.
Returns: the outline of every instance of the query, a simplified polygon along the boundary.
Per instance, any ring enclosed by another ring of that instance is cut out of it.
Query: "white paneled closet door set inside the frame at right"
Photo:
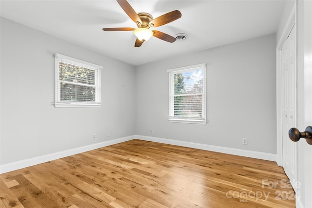
[[[282,128],[283,128],[283,168],[295,189],[297,175],[297,144],[289,139],[288,131],[295,127],[296,109],[296,25],[282,47]]]

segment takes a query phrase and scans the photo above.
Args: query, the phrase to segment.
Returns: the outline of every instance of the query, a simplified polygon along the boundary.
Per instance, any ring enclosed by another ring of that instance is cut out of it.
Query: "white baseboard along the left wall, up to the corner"
[[[56,159],[59,159],[62,157],[67,157],[67,156],[71,156],[74,154],[79,154],[79,153],[82,153],[85,151],[91,151],[91,150],[95,150],[98,148],[118,144],[121,142],[132,140],[134,138],[135,138],[135,136],[131,135],[131,136],[112,139],[112,140],[99,142],[96,144],[91,144],[91,145],[87,145],[87,146],[83,146],[83,147],[78,147],[78,148],[74,148],[74,149],[70,149],[70,150],[59,151],[59,152],[55,152],[55,153],[51,153],[51,154],[41,155],[38,157],[19,160],[19,161],[12,162],[12,163],[6,163],[3,165],[0,165],[0,174],[5,173],[5,172],[9,172],[9,171],[13,171],[13,170],[19,170],[19,169],[26,168],[26,167],[33,166],[33,165],[38,165],[40,163],[45,163],[45,162],[48,162],[51,160],[56,160]]]

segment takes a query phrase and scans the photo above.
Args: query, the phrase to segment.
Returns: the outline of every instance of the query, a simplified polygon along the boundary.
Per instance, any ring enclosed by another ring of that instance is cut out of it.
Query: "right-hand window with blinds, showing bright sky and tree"
[[[206,64],[167,72],[169,121],[206,124]]]

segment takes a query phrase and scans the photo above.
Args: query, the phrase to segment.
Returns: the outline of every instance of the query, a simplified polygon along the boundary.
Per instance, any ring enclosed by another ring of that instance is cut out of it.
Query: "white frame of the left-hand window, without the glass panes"
[[[95,71],[95,88],[96,88],[96,101],[95,102],[83,102],[83,101],[61,101],[60,99],[60,83],[59,79],[59,61],[63,63],[91,69]],[[100,108],[101,107],[101,70],[102,66],[89,63],[77,58],[64,56],[61,54],[55,54],[55,102],[56,108]]]

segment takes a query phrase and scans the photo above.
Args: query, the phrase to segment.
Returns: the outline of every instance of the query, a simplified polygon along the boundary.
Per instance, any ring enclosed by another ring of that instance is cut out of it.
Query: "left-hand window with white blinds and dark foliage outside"
[[[55,55],[55,107],[100,107],[101,66]]]

